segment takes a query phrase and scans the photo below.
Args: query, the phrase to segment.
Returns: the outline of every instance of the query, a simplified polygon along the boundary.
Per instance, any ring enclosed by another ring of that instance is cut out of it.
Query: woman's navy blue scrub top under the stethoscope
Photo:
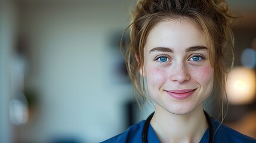
[[[145,121],[141,121],[135,125],[130,126],[124,133],[121,133],[113,138],[103,141],[103,143],[113,143],[113,142],[142,142],[142,131]],[[212,119],[212,125],[214,132],[220,125],[217,120]],[[158,136],[156,136],[155,131],[152,126],[149,125],[147,130],[147,142],[149,143],[160,143]],[[204,133],[200,143],[207,142],[209,139],[209,129]],[[223,124],[214,135],[214,142],[246,142],[246,143],[256,143],[256,139],[250,138],[249,136],[243,135]]]

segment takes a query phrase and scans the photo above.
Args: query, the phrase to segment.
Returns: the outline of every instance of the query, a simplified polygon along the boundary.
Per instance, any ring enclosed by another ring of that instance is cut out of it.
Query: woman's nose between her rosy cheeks
[[[171,80],[177,83],[184,83],[190,79],[189,70],[184,64],[177,64],[171,71]]]

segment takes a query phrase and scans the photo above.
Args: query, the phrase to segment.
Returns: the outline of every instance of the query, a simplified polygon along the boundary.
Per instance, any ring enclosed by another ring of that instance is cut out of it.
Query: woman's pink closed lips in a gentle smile
[[[171,95],[171,97],[177,100],[184,100],[189,98],[196,89],[180,89],[180,90],[170,90],[166,91],[167,94]]]

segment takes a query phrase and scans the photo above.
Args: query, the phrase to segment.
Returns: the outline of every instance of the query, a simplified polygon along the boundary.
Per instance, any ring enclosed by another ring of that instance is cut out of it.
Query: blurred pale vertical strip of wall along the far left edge
[[[12,142],[13,126],[8,118],[11,100],[10,62],[16,34],[16,7],[0,1],[0,142]]]

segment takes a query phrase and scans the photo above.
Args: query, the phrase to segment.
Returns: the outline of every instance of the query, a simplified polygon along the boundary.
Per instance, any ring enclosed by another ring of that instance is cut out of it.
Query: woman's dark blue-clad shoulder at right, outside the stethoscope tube
[[[256,143],[256,139],[253,139],[249,136],[243,135],[242,133],[229,128],[226,125],[223,125],[217,121],[213,122],[214,128],[217,129],[215,132],[215,142],[248,142]],[[218,128],[219,127],[219,128]]]

